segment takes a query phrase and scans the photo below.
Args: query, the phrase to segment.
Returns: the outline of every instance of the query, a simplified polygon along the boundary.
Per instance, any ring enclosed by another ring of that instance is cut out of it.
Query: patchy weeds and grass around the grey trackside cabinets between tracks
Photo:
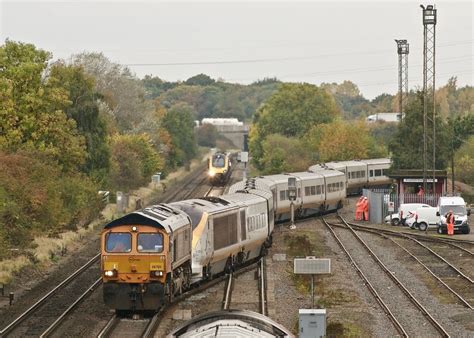
[[[331,250],[325,245],[324,238],[310,229],[301,229],[285,234],[286,254],[290,262],[293,258],[315,256],[329,257]],[[295,287],[305,297],[311,297],[311,276],[295,275],[290,263],[287,273]],[[367,327],[361,324],[361,317],[354,313],[354,304],[358,303],[357,295],[338,283],[338,272],[329,276],[315,276],[315,307],[327,309],[328,337],[364,337],[368,336]],[[299,332],[298,318],[295,318],[293,332]]]

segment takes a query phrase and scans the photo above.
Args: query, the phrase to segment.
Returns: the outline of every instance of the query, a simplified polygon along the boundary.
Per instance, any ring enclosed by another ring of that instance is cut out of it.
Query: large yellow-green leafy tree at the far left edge
[[[0,47],[0,149],[39,151],[69,171],[84,163],[84,138],[65,114],[68,91],[46,76],[50,59],[32,44]]]

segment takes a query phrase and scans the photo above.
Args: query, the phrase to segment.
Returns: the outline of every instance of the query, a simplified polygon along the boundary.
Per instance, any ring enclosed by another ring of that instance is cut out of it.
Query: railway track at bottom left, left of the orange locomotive
[[[58,318],[67,316],[100,284],[96,278],[99,275],[97,264],[99,258],[100,254],[95,255],[31,305],[0,331],[0,337],[37,337],[43,334],[47,336],[50,332],[48,330],[51,330],[51,332],[54,330],[53,324],[58,321]]]

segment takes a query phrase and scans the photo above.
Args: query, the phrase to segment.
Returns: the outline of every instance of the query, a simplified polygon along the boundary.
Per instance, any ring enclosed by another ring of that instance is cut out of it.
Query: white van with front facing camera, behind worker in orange
[[[468,216],[471,210],[466,209],[466,202],[462,197],[440,197],[438,201],[438,233],[447,232],[446,214],[449,210],[454,214],[454,231],[460,230],[463,234],[468,234],[469,228]]]

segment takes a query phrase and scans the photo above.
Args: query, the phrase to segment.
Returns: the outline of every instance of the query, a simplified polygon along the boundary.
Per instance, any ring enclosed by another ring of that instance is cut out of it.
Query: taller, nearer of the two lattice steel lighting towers
[[[433,193],[436,192],[436,109],[435,109],[435,47],[436,8],[423,6],[423,189],[427,192],[428,142],[432,143]],[[432,108],[429,116],[430,106]],[[429,124],[431,123],[431,126]],[[431,140],[430,140],[431,139]]]

